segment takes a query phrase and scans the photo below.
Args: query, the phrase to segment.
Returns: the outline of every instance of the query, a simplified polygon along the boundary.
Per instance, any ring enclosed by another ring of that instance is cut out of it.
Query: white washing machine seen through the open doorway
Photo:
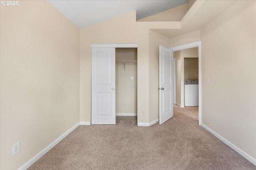
[[[184,81],[184,106],[198,106],[198,80]]]

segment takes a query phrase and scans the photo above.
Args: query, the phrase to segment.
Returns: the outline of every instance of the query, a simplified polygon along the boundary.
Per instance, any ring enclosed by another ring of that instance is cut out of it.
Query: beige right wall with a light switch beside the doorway
[[[242,0],[201,29],[202,123],[254,159],[255,30],[256,1]]]

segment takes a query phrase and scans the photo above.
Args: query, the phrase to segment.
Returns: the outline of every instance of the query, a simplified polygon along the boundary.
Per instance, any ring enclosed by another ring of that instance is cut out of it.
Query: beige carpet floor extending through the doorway
[[[138,127],[81,125],[28,170],[256,170],[256,166],[198,125],[198,107],[174,105],[174,116]]]

